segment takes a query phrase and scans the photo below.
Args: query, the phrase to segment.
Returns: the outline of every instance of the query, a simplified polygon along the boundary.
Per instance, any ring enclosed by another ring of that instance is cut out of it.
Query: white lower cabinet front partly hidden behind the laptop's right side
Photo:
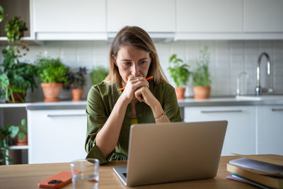
[[[227,120],[221,155],[255,154],[255,106],[186,107],[185,122]]]

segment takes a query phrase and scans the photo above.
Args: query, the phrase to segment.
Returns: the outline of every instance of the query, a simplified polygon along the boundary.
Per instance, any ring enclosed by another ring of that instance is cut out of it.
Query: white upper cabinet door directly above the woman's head
[[[174,0],[108,0],[108,32],[137,25],[147,32],[175,32]]]

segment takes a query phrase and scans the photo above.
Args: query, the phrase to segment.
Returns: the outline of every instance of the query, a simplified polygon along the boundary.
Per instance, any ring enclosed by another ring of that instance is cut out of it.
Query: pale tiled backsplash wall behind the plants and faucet
[[[265,57],[260,64],[262,87],[273,88],[274,93],[283,93],[283,40],[190,40],[170,43],[156,43],[161,65],[169,82],[174,86],[168,71],[168,58],[176,53],[184,62],[195,69],[195,60],[199,50],[204,45],[209,46],[209,69],[212,74],[212,96],[234,96],[236,94],[236,79],[245,71],[249,78],[241,76],[241,88],[246,87],[246,93],[254,94],[256,86],[256,67],[261,52],[267,52],[271,59],[271,76],[267,76]],[[110,44],[103,41],[50,41],[45,45],[31,46],[28,55],[22,58],[26,62],[34,62],[38,55],[62,59],[71,68],[87,67],[88,73],[98,65],[108,67],[108,52]],[[3,49],[4,47],[1,47]],[[3,56],[0,57],[3,62]],[[86,98],[91,87],[88,75],[87,86],[83,98]],[[192,78],[187,84],[186,96],[193,96]],[[28,91],[27,101],[42,101],[41,88],[34,93]],[[70,99],[70,91],[62,91],[62,99]]]

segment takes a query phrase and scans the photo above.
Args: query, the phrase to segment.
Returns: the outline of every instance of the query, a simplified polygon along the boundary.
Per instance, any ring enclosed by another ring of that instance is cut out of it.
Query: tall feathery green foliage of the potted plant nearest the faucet
[[[208,48],[205,46],[200,50],[200,58],[197,59],[197,69],[192,74],[194,79],[194,86],[210,86],[212,84],[211,76],[209,73],[209,53]]]

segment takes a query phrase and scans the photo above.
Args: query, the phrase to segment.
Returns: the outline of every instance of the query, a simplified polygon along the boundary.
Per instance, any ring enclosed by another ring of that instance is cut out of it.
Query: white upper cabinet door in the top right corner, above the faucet
[[[283,32],[282,0],[244,0],[244,32]]]

